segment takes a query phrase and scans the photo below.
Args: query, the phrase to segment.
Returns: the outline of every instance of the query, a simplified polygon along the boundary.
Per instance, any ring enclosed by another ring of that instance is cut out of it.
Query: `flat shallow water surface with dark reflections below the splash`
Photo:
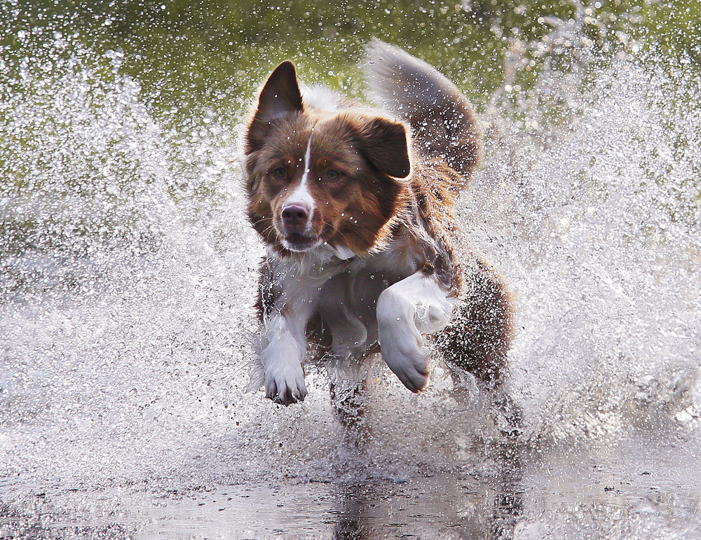
[[[479,473],[397,481],[358,471],[339,482],[165,491],[144,482],[11,497],[5,483],[0,538],[695,539],[701,473],[684,442],[667,434],[654,450],[639,440],[545,453],[507,442],[475,456]]]

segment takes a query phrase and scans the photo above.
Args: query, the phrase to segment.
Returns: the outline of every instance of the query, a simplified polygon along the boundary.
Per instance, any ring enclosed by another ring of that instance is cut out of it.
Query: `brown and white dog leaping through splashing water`
[[[283,62],[245,131],[248,215],[268,248],[259,360],[268,398],[285,405],[307,394],[309,340],[348,364],[379,350],[411,392],[428,380],[426,334],[440,331],[444,359],[481,380],[505,367],[508,291],[477,254],[458,263],[451,249],[481,148],[472,107],[401,49],[374,41],[367,55],[388,113],[303,94]]]

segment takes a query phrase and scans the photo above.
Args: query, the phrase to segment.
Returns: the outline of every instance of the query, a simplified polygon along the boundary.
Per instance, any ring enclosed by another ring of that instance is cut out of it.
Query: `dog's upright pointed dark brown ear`
[[[297,71],[294,64],[286,60],[275,68],[261,90],[256,113],[246,134],[246,153],[260,148],[272,120],[303,110]]]

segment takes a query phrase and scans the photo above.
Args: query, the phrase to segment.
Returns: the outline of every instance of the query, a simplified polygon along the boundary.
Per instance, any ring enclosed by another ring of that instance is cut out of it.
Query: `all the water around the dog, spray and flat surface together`
[[[507,50],[458,207],[517,298],[521,433],[469,378],[436,364],[414,396],[376,359],[360,449],[322,368],[301,406],[248,388],[238,109],[170,113],[128,51],[15,29],[0,537],[701,538],[700,79],[601,57],[580,23],[529,42],[527,91]]]

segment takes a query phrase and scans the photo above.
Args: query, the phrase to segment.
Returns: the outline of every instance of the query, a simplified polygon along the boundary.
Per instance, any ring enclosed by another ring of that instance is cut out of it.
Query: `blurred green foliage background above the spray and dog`
[[[434,64],[484,106],[505,77],[528,88],[553,43],[576,46],[566,36],[543,46],[567,24],[591,40],[594,53],[655,48],[697,66],[700,11],[695,0],[10,0],[0,7],[6,29],[0,43],[12,55],[18,32],[45,29],[98,51],[121,49],[122,71],[141,83],[156,109],[238,116],[287,58],[305,81],[360,97],[355,64],[363,43],[379,37]],[[522,61],[510,67],[514,50]],[[566,55],[559,61],[569,62]]]

